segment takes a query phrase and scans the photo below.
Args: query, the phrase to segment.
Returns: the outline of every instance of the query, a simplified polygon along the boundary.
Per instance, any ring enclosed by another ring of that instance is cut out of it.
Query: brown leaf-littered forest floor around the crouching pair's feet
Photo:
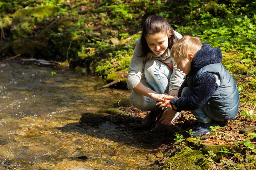
[[[248,79],[252,78],[253,77],[248,77],[246,75],[239,75],[238,77],[236,77],[236,83],[237,85],[242,85],[245,84]],[[199,136],[199,145],[229,145],[230,148],[232,148],[230,150],[226,150],[226,153],[232,154],[222,157],[222,161],[226,161],[224,164],[221,164],[220,160],[215,160],[212,162],[213,164],[215,164],[215,168],[217,169],[223,169],[225,166],[227,167],[227,165],[230,166],[231,164],[233,166],[236,166],[235,164],[242,164],[244,160],[246,160],[246,155],[248,151],[251,155],[256,155],[256,136],[254,136],[256,135],[256,115],[254,113],[255,106],[253,104],[248,104],[248,102],[250,102],[250,99],[255,97],[256,93],[250,88],[244,88],[242,95],[248,94],[249,97],[247,97],[246,101],[244,101],[243,103],[241,103],[240,101],[239,113],[234,119],[228,120],[227,122],[220,124],[220,128],[212,129],[211,132],[207,135]],[[180,148],[178,146],[181,144],[181,142],[178,143],[177,138],[174,135],[183,135],[181,138],[185,139],[184,141],[186,141],[186,139],[191,137],[188,133],[189,130],[194,130],[196,126],[190,125],[196,120],[192,113],[190,111],[182,111],[180,117],[175,120],[173,125],[156,134],[152,131],[154,129],[154,126],[145,128],[141,125],[143,117],[145,117],[147,114],[146,111],[140,111],[133,106],[130,106],[128,108],[122,108],[121,110],[125,111],[125,113],[129,115],[126,117],[127,119],[122,120],[121,122],[123,123],[123,125],[130,128],[131,131],[133,131],[136,139],[140,142],[152,144],[155,149],[150,150],[150,152],[156,154],[163,153],[163,157],[160,158],[158,161],[154,162],[154,164],[157,164],[159,167],[162,167],[165,161],[172,157],[176,152],[180,151]],[[244,111],[254,112],[244,113]],[[248,136],[249,133],[253,135]],[[247,140],[250,141],[250,144],[253,145],[246,144],[245,141]],[[181,148],[189,145],[188,143],[189,142],[184,142]],[[250,168],[251,167],[247,167],[246,169]]]

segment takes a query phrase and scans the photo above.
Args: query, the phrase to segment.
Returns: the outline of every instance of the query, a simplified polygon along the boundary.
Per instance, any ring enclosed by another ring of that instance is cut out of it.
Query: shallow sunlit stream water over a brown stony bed
[[[97,90],[102,85],[99,77],[0,62],[0,168],[50,170],[62,161],[82,161],[93,170],[147,169],[157,159],[150,144],[114,125],[80,123],[81,113],[113,108],[129,94]]]

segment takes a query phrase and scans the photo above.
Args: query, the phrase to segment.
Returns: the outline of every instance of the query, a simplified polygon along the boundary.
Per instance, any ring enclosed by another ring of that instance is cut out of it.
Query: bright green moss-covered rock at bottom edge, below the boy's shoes
[[[204,154],[200,150],[192,150],[189,147],[183,148],[180,153],[172,156],[163,166],[163,170],[207,170],[210,166]]]

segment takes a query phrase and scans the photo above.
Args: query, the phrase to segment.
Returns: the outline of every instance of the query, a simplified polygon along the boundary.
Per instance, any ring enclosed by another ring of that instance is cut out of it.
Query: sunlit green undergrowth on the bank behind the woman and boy
[[[153,14],[166,18],[182,35],[221,48],[223,64],[232,74],[255,77],[253,0],[2,0],[0,57],[15,55],[14,41],[36,41],[44,44],[41,58],[67,61],[110,82],[113,74],[123,77],[143,22]],[[16,53],[37,57],[41,46]],[[248,85],[255,88],[253,81]]]

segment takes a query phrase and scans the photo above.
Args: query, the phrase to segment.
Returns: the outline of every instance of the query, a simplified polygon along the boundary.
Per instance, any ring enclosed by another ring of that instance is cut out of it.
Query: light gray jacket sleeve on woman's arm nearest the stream
[[[140,38],[136,40],[136,46],[134,48],[133,57],[131,58],[131,62],[129,65],[129,71],[127,74],[127,86],[129,89],[133,90],[134,85],[140,82],[142,77],[143,67],[144,67],[144,59],[140,57],[142,55],[141,46],[140,46]]]

